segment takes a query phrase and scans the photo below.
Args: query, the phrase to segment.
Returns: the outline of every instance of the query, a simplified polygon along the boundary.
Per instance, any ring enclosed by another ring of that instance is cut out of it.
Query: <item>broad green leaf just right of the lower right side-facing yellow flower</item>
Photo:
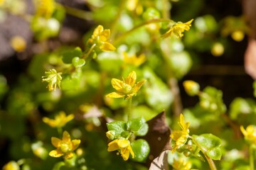
[[[200,145],[201,151],[205,152],[208,157],[214,160],[220,160],[221,158],[221,151],[220,145],[221,140],[220,138],[216,137],[212,134],[203,134],[203,135],[193,135],[194,140],[196,140],[196,144]]]

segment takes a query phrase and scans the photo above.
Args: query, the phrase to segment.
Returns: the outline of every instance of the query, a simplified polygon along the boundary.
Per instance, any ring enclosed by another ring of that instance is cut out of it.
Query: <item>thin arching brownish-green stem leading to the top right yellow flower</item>
[[[119,37],[117,37],[115,40],[114,40],[114,45],[116,45],[119,41],[123,40],[124,38],[127,37],[127,35],[129,35],[130,33],[134,32],[134,30],[137,30],[138,28],[141,28],[142,26],[146,26],[150,23],[162,23],[162,22],[174,22],[174,21],[171,21],[170,19],[164,19],[164,18],[160,18],[160,19],[151,19],[149,21],[146,21],[144,23],[141,23],[139,24],[138,26],[135,26],[134,28],[132,28],[131,30],[128,30],[126,33],[120,35]]]

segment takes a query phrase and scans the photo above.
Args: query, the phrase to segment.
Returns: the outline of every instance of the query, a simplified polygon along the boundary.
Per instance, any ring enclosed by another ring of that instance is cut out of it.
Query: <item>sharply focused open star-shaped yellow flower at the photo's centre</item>
[[[146,81],[143,79],[142,81],[137,82],[135,84],[135,81],[137,79],[136,72],[132,71],[128,74],[125,79],[119,80],[119,79],[112,79],[111,84],[114,89],[116,89],[118,92],[112,92],[110,94],[107,94],[107,97],[110,98],[122,98],[125,97],[124,99],[127,100],[131,98],[132,96],[137,94],[137,91],[142,87],[144,82]]]

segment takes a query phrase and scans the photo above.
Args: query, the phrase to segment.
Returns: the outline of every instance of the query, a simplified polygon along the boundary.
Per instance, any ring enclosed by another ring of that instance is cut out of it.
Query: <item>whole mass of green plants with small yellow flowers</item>
[[[222,91],[186,80],[198,103],[182,108],[178,92],[193,64],[186,47],[223,55],[229,35],[247,33],[243,18],[218,28],[213,16],[172,20],[174,0],[85,3],[90,12],[36,0],[31,16],[24,1],[0,1],[0,12],[28,21],[44,46],[65,13],[95,21],[84,46],[46,47],[14,87],[0,77],[0,136],[12,158],[4,170],[254,169],[255,101],[235,98],[228,111]],[[27,47],[18,35],[10,45]]]

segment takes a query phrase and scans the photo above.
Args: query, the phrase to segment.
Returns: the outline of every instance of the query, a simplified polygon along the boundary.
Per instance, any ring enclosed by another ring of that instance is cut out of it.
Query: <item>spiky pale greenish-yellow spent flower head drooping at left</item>
[[[50,69],[49,72],[45,72],[45,76],[43,76],[43,81],[48,82],[49,91],[55,91],[56,87],[60,88],[60,82],[62,77],[60,76],[61,72],[58,73],[55,69]]]

